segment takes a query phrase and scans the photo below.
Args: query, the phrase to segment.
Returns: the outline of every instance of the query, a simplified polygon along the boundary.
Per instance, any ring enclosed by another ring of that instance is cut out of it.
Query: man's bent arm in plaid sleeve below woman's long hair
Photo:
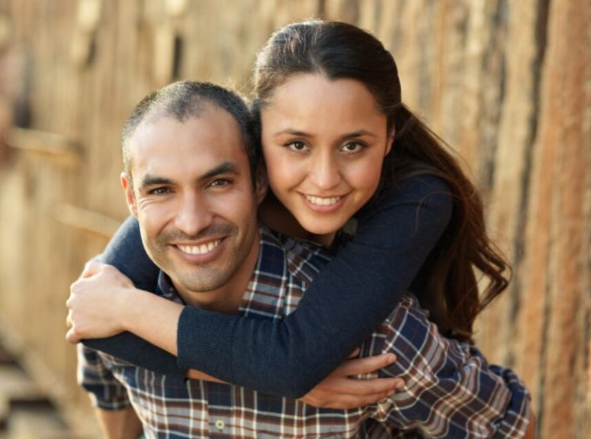
[[[376,405],[380,422],[431,438],[528,437],[530,398],[522,381],[488,365],[473,346],[442,337],[416,298],[402,299],[374,342],[398,358],[383,376],[405,381]]]

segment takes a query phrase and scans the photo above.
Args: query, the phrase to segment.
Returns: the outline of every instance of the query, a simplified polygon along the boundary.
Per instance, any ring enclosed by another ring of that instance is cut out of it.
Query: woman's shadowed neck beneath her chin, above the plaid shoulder
[[[297,219],[286,207],[281,204],[275,194],[269,191],[264,201],[259,206],[259,221],[281,234],[292,238],[305,239],[330,247],[336,232],[332,234],[316,235],[301,227]]]

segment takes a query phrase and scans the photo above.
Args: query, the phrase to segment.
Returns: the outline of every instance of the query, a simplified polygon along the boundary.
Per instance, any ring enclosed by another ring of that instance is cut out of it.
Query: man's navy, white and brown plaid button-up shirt
[[[328,260],[316,245],[261,227],[240,313],[291,313]],[[163,273],[159,284],[161,295],[182,302]],[[529,396],[517,376],[442,337],[410,294],[362,346],[365,357],[394,352],[398,360],[379,376],[400,376],[405,386],[358,409],[317,409],[237,385],[164,376],[81,344],[78,352],[78,380],[94,405],[132,405],[148,438],[520,438],[528,423]]]

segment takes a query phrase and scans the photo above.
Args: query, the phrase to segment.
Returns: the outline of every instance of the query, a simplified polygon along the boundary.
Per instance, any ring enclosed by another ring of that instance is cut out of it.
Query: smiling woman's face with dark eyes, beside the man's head
[[[363,83],[294,75],[261,123],[270,187],[308,232],[334,234],[376,192],[393,133]]]

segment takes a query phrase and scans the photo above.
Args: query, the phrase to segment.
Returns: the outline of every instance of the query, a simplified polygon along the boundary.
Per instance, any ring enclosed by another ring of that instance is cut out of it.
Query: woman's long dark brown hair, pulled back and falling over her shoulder
[[[418,175],[434,175],[449,186],[451,221],[429,254],[431,270],[425,274],[425,288],[416,293],[443,334],[472,342],[475,317],[508,284],[504,276],[508,264],[486,236],[482,200],[475,186],[447,145],[402,104],[394,58],[372,34],[347,23],[311,20],[283,27],[271,36],[255,64],[252,106],[259,132],[261,107],[279,85],[298,73],[358,80],[387,115],[387,128],[394,128],[396,135],[374,202],[400,181]],[[475,269],[490,281],[482,297]]]

